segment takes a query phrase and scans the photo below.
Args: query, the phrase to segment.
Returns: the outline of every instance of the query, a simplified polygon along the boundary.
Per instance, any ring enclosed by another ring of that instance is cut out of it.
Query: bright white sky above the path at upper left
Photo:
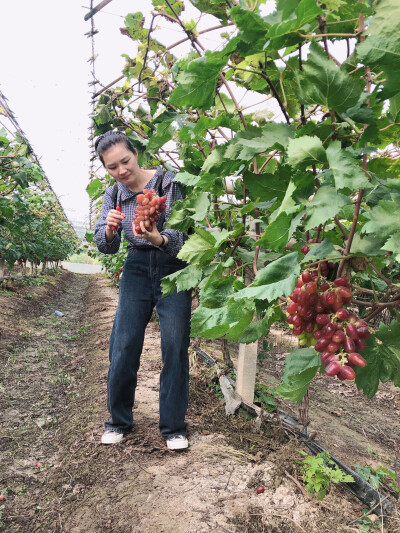
[[[87,221],[89,211],[85,188],[90,166],[91,40],[85,36],[90,21],[84,21],[89,5],[88,0],[3,0],[0,6],[0,89],[67,216],[81,222]],[[182,18],[197,20],[199,12],[187,0],[185,6]],[[126,14],[139,10],[148,27],[150,0],[113,0],[94,17],[99,30],[95,69],[104,85],[121,75],[122,53],[136,55],[135,43],[119,28]],[[218,24],[214,17],[204,17],[199,29]],[[159,18],[158,26],[161,32],[156,37],[165,44],[182,38],[177,26],[165,19]],[[223,31],[207,33],[200,40],[206,48],[216,49]],[[188,50],[186,44],[173,52],[181,56]]]

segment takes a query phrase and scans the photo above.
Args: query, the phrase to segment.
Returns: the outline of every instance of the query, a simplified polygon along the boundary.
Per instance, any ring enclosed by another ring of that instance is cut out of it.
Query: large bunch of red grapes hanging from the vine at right
[[[305,270],[288,300],[287,322],[300,345],[320,352],[327,376],[354,379],[353,368],[367,364],[358,352],[365,349],[370,331],[366,322],[345,309],[351,302],[347,279],[331,282],[317,270]]]

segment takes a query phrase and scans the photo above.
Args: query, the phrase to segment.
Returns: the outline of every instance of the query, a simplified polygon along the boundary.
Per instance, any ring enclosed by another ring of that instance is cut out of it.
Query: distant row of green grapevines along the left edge
[[[0,108],[6,117],[9,110]],[[36,161],[27,140],[0,129],[0,278],[14,264],[32,273],[58,264],[79,247],[75,230]]]

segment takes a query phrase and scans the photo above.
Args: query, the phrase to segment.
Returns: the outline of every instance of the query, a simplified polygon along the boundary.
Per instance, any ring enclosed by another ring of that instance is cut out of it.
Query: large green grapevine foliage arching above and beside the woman
[[[179,255],[189,266],[164,292],[198,290],[193,335],[248,343],[282,319],[299,274],[328,260],[378,328],[356,384],[369,396],[379,381],[400,385],[399,3],[278,0],[270,14],[258,0],[191,3],[208,29],[185,20],[181,1],[126,16],[138,53],[125,56],[120,85],[98,91],[93,116],[95,135],[125,131],[141,164],[171,168],[185,186],[169,225],[194,228]],[[160,42],[163,19],[178,43]],[[202,42],[209,31],[218,50]],[[177,57],[181,42],[191,51]],[[257,105],[241,106],[245,91]],[[100,198],[106,184],[88,191]],[[289,358],[292,399],[321,365],[311,352]]]

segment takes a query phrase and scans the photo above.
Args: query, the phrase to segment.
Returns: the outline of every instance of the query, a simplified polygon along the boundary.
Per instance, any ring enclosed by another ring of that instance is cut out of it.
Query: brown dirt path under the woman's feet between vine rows
[[[198,363],[190,448],[166,449],[157,428],[156,322],[146,334],[134,431],[120,445],[102,446],[116,305],[104,277],[69,272],[45,287],[0,294],[1,531],[359,531],[347,524],[360,503],[340,487],[323,504],[308,499],[285,474],[295,475],[300,444],[278,425],[252,432],[247,415],[226,419]],[[255,491],[260,484],[263,494]]]

